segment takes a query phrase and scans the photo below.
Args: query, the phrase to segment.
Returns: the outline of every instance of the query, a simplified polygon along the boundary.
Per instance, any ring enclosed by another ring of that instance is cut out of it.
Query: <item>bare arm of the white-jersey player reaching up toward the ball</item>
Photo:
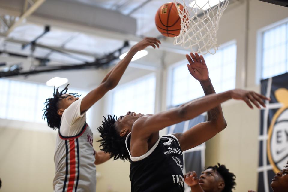
[[[109,90],[116,87],[119,83],[122,75],[124,74],[128,64],[131,62],[133,56],[140,50],[145,49],[148,46],[152,46],[159,48],[159,44],[161,42],[156,38],[144,38],[142,41],[134,45],[125,58],[121,60],[103,79],[101,84],[95,88],[94,90],[90,91],[81,102],[81,113],[87,111],[95,102],[101,99]]]

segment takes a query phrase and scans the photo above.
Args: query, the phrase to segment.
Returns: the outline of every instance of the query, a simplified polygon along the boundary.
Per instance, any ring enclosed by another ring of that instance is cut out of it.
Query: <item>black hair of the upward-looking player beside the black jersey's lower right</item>
[[[225,182],[225,187],[222,192],[232,192],[232,189],[235,189],[236,176],[234,175],[234,173],[229,172],[229,169],[227,169],[225,165],[221,165],[220,163],[218,163],[218,165],[209,166],[206,169],[213,169],[214,171],[216,170],[222,176]]]

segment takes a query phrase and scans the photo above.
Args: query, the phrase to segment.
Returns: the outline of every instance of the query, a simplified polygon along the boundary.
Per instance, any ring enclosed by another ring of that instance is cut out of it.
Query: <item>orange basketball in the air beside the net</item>
[[[177,3],[177,6],[183,11],[183,5]],[[175,3],[165,3],[158,9],[155,15],[155,24],[158,31],[166,37],[176,37],[180,34],[181,19]]]

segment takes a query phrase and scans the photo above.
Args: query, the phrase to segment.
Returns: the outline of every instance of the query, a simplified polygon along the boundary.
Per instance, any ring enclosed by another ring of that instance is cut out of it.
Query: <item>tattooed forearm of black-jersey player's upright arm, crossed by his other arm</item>
[[[208,78],[206,81],[200,81],[200,84],[203,88],[205,96],[216,93],[214,90],[214,87],[211,83],[210,78]],[[208,121],[213,121],[219,125],[226,127],[226,121],[225,121],[224,116],[223,116],[221,105],[218,105],[217,107],[209,110],[207,112],[207,116],[208,116],[208,119],[207,119]]]

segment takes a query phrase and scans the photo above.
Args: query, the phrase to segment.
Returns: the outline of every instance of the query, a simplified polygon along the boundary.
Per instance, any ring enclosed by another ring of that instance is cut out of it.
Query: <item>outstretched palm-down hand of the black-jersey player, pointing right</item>
[[[232,97],[232,99],[245,101],[246,104],[251,109],[253,109],[251,102],[257,108],[260,109],[261,108],[260,105],[262,105],[263,107],[266,107],[265,103],[263,102],[263,99],[270,101],[270,98],[265,97],[264,95],[261,95],[259,93],[254,92],[254,91],[246,91],[246,90],[242,90],[242,89],[231,90],[231,97]]]

